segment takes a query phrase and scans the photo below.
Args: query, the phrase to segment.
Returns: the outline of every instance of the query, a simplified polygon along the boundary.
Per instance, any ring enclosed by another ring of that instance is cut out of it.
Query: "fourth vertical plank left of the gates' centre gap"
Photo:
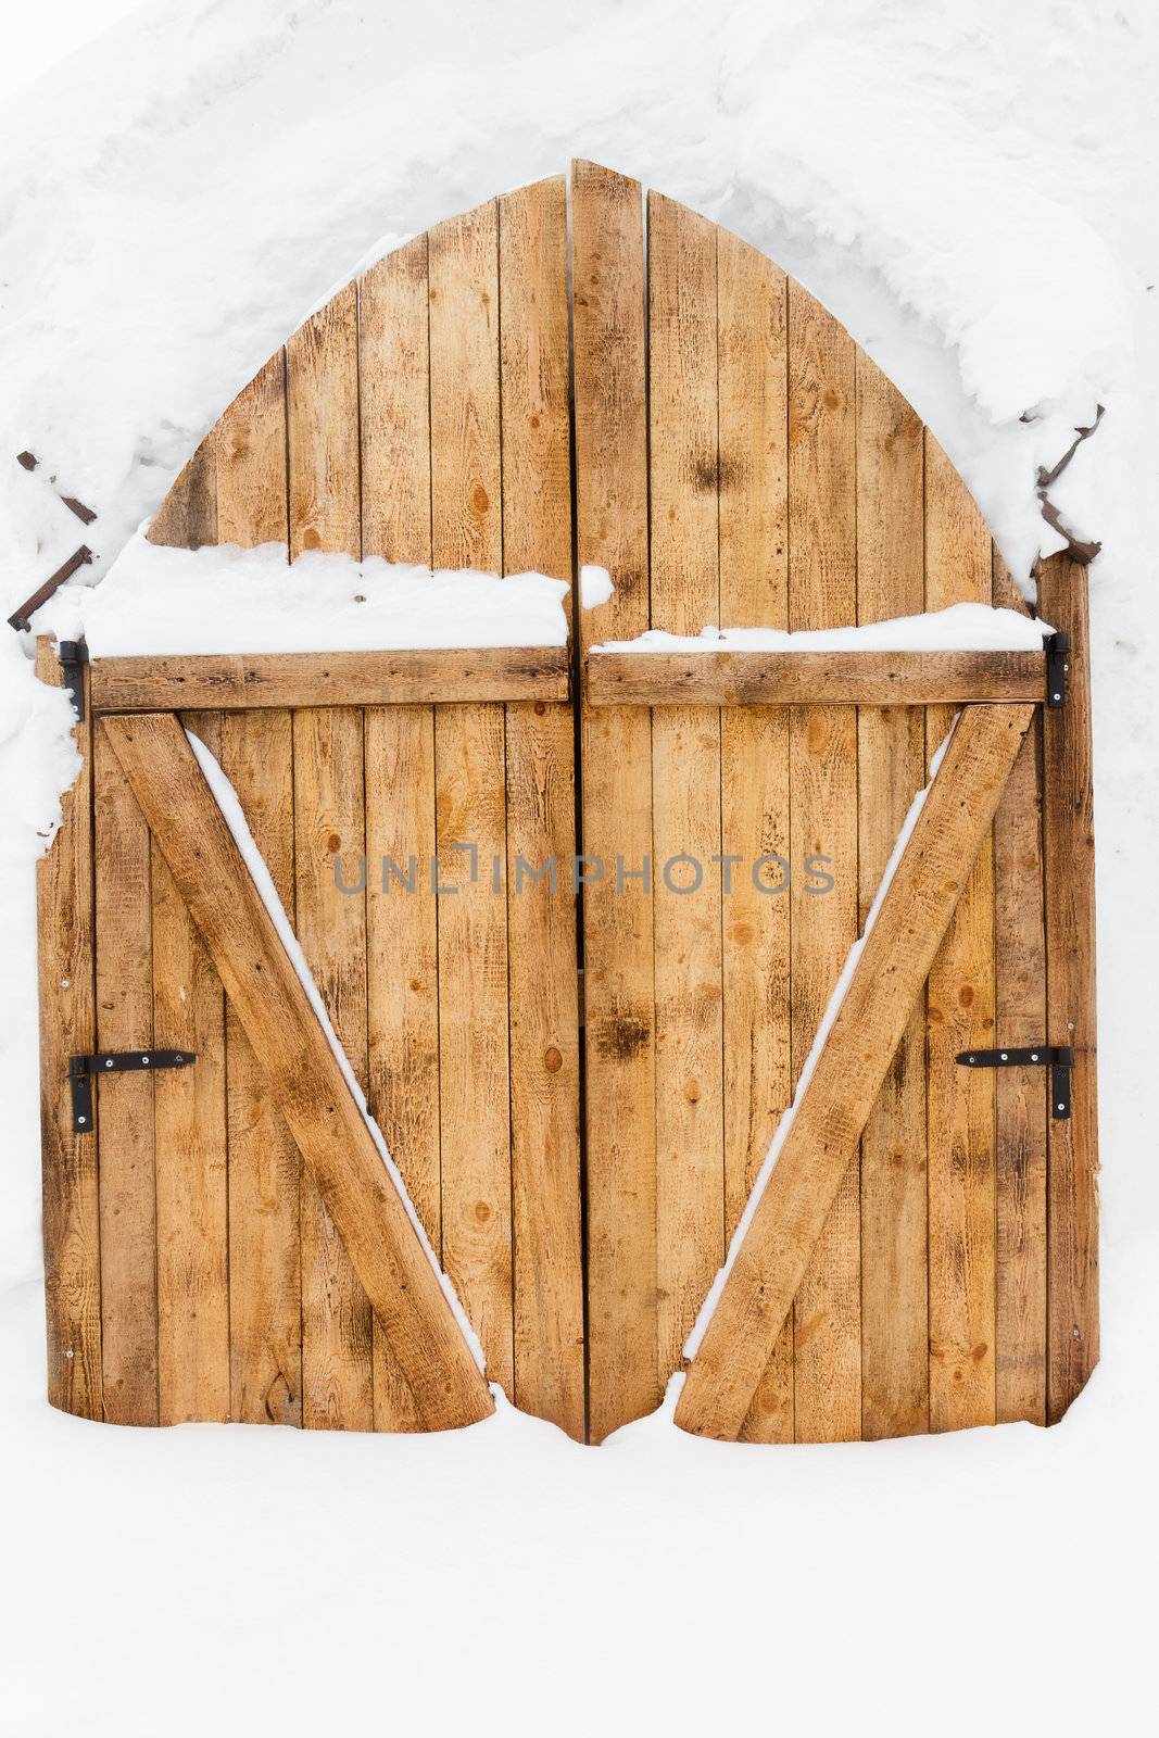
[[[290,556],[361,554],[358,290],[351,283],[287,346]],[[297,939],[330,1020],[367,1085],[363,721],[353,707],[294,714],[294,879]],[[372,1312],[313,1178],[302,1173],[302,1423],[374,1423]]]

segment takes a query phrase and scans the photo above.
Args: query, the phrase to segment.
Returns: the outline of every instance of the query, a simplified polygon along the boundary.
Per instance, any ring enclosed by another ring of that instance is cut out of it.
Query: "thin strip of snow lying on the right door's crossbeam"
[[[593,652],[1041,652],[1050,622],[987,603],[954,603],[926,615],[895,615],[860,627],[712,627],[669,634],[650,627],[634,640],[608,640]]]

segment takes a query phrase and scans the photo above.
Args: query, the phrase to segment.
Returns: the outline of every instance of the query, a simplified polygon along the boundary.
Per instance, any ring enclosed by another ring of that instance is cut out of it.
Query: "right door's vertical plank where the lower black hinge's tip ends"
[[[926,608],[990,601],[990,539],[926,429]],[[926,713],[926,756],[954,718]],[[994,1423],[994,1074],[959,1050],[994,1043],[994,846],[978,853],[928,985],[930,1429]]]

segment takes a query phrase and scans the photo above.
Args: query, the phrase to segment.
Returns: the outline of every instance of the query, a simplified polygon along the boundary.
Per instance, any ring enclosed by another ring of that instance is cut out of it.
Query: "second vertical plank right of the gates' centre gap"
[[[719,620],[716,229],[648,195],[652,622]],[[652,714],[657,1361],[666,1383],[725,1253],[719,713]]]

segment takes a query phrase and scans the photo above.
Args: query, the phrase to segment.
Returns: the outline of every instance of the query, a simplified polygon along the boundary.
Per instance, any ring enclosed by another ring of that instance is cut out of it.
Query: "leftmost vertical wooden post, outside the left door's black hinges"
[[[50,640],[36,641],[36,676],[64,685]],[[96,1043],[90,728],[85,721],[73,732],[80,772],[61,798],[61,831],[36,864],[49,1403],[80,1418],[103,1415],[97,1140],[73,1133],[68,1088],[68,1058]]]

